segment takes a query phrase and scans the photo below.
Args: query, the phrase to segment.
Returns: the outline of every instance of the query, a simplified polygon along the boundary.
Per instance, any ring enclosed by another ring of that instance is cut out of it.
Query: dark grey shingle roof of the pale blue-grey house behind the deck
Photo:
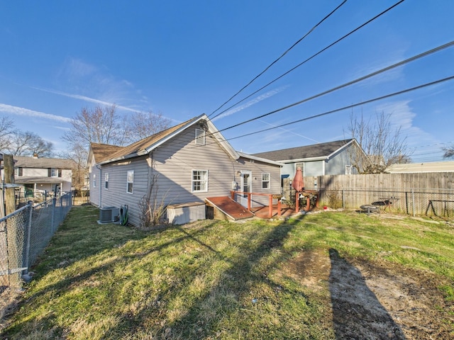
[[[304,147],[290,147],[288,149],[260,152],[253,154],[253,156],[271,159],[276,162],[297,162],[303,159],[329,159],[331,155],[350,145],[353,141],[355,140],[336,140],[334,142],[306,145]]]

